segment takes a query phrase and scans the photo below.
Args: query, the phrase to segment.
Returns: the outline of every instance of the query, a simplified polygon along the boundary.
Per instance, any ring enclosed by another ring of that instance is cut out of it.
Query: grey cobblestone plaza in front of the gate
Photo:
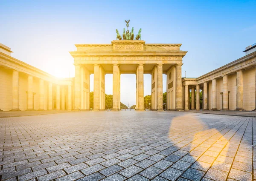
[[[249,181],[255,123],[152,111],[0,118],[0,180]]]

